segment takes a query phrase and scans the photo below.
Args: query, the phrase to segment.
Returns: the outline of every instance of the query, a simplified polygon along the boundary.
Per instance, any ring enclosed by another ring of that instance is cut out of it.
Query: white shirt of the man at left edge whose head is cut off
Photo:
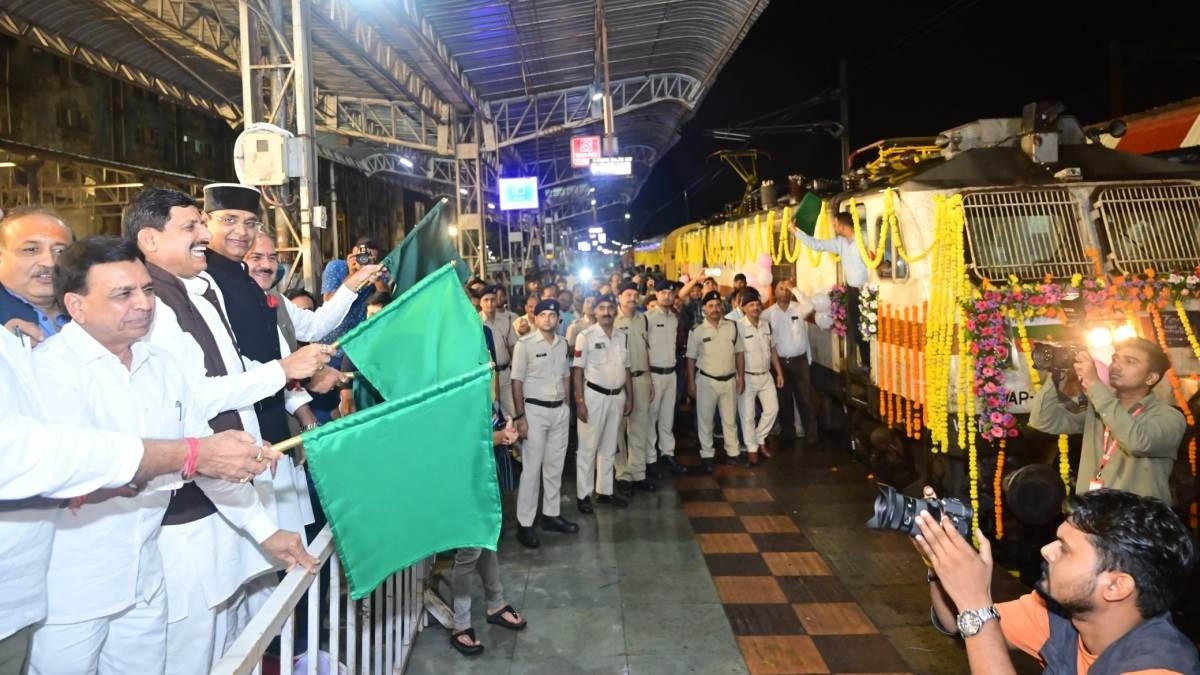
[[[29,347],[0,330],[0,500],[70,498],[127,484],[142,462],[136,436],[60,424],[40,394]],[[49,396],[47,396],[49,399]],[[56,508],[0,510],[0,639],[46,617],[46,568]]]

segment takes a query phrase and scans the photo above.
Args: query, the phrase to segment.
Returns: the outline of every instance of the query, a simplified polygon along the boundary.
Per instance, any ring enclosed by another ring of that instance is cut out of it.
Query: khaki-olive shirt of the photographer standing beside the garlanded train
[[[1048,381],[1030,406],[1030,426],[1046,434],[1084,434],[1075,494],[1088,491],[1099,471],[1105,488],[1171,503],[1171,468],[1187,431],[1183,413],[1151,393],[1139,401],[1145,410],[1134,417],[1116,394],[1099,382],[1087,389],[1087,401],[1086,410],[1069,412],[1058,399],[1054,382]],[[1105,426],[1117,448],[1102,471]]]

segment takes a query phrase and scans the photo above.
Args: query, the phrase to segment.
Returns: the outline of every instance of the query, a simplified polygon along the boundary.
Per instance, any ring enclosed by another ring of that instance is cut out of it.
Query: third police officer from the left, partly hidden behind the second
[[[650,447],[649,318],[637,311],[637,285],[625,281],[617,295],[617,317],[612,324],[628,336],[629,375],[634,378],[634,404],[617,435],[617,489],[632,496],[634,489],[653,492],[654,483],[646,479],[646,456]]]

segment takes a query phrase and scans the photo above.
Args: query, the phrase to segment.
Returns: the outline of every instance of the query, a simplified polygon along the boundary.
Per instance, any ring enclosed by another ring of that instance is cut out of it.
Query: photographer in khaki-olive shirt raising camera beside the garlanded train
[[[1171,468],[1187,423],[1153,393],[1170,365],[1158,345],[1134,338],[1116,344],[1108,384],[1086,351],[1073,368],[1051,371],[1033,396],[1030,426],[1084,434],[1076,495],[1112,488],[1171,503]]]

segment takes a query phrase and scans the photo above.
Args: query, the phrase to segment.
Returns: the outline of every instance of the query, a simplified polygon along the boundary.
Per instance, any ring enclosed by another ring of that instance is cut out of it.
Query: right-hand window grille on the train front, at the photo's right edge
[[[1190,270],[1200,263],[1200,185],[1105,187],[1096,209],[1123,274]]]

